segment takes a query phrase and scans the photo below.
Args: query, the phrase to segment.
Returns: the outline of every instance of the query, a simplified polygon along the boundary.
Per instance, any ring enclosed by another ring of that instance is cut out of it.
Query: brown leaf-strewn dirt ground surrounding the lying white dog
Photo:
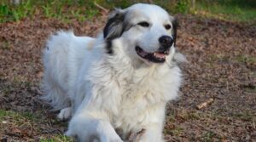
[[[256,141],[256,25],[183,14],[177,19],[177,49],[188,63],[181,65],[180,99],[166,109],[166,141]],[[36,17],[0,24],[2,141],[43,141],[67,129],[39,99],[44,42],[61,29],[96,36],[105,20],[103,14],[83,23]]]

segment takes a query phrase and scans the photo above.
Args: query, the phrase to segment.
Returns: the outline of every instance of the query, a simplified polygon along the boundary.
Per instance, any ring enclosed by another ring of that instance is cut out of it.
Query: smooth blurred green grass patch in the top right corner
[[[256,21],[256,1],[253,0],[198,0],[195,14],[233,21]]]

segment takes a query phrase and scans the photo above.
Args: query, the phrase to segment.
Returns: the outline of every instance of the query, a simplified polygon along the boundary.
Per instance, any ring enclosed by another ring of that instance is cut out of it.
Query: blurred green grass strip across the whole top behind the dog
[[[221,20],[254,22],[256,0],[2,0],[0,22],[23,18],[56,18],[69,21],[88,20],[101,9],[126,8],[132,3],[154,3],[172,14],[195,14]]]

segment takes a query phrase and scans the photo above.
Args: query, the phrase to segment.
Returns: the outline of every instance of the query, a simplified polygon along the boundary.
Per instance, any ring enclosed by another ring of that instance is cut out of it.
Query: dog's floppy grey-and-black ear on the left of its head
[[[106,40],[112,40],[120,37],[124,31],[125,11],[115,9],[108,18],[108,22],[103,30],[103,36]]]

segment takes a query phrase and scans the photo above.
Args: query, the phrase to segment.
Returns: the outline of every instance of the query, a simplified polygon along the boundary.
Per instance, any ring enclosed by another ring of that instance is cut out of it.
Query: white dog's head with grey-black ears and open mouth
[[[111,42],[119,39],[125,53],[132,59],[164,63],[175,46],[177,21],[159,6],[138,3],[113,11],[103,36],[108,43],[109,54],[114,52]]]

